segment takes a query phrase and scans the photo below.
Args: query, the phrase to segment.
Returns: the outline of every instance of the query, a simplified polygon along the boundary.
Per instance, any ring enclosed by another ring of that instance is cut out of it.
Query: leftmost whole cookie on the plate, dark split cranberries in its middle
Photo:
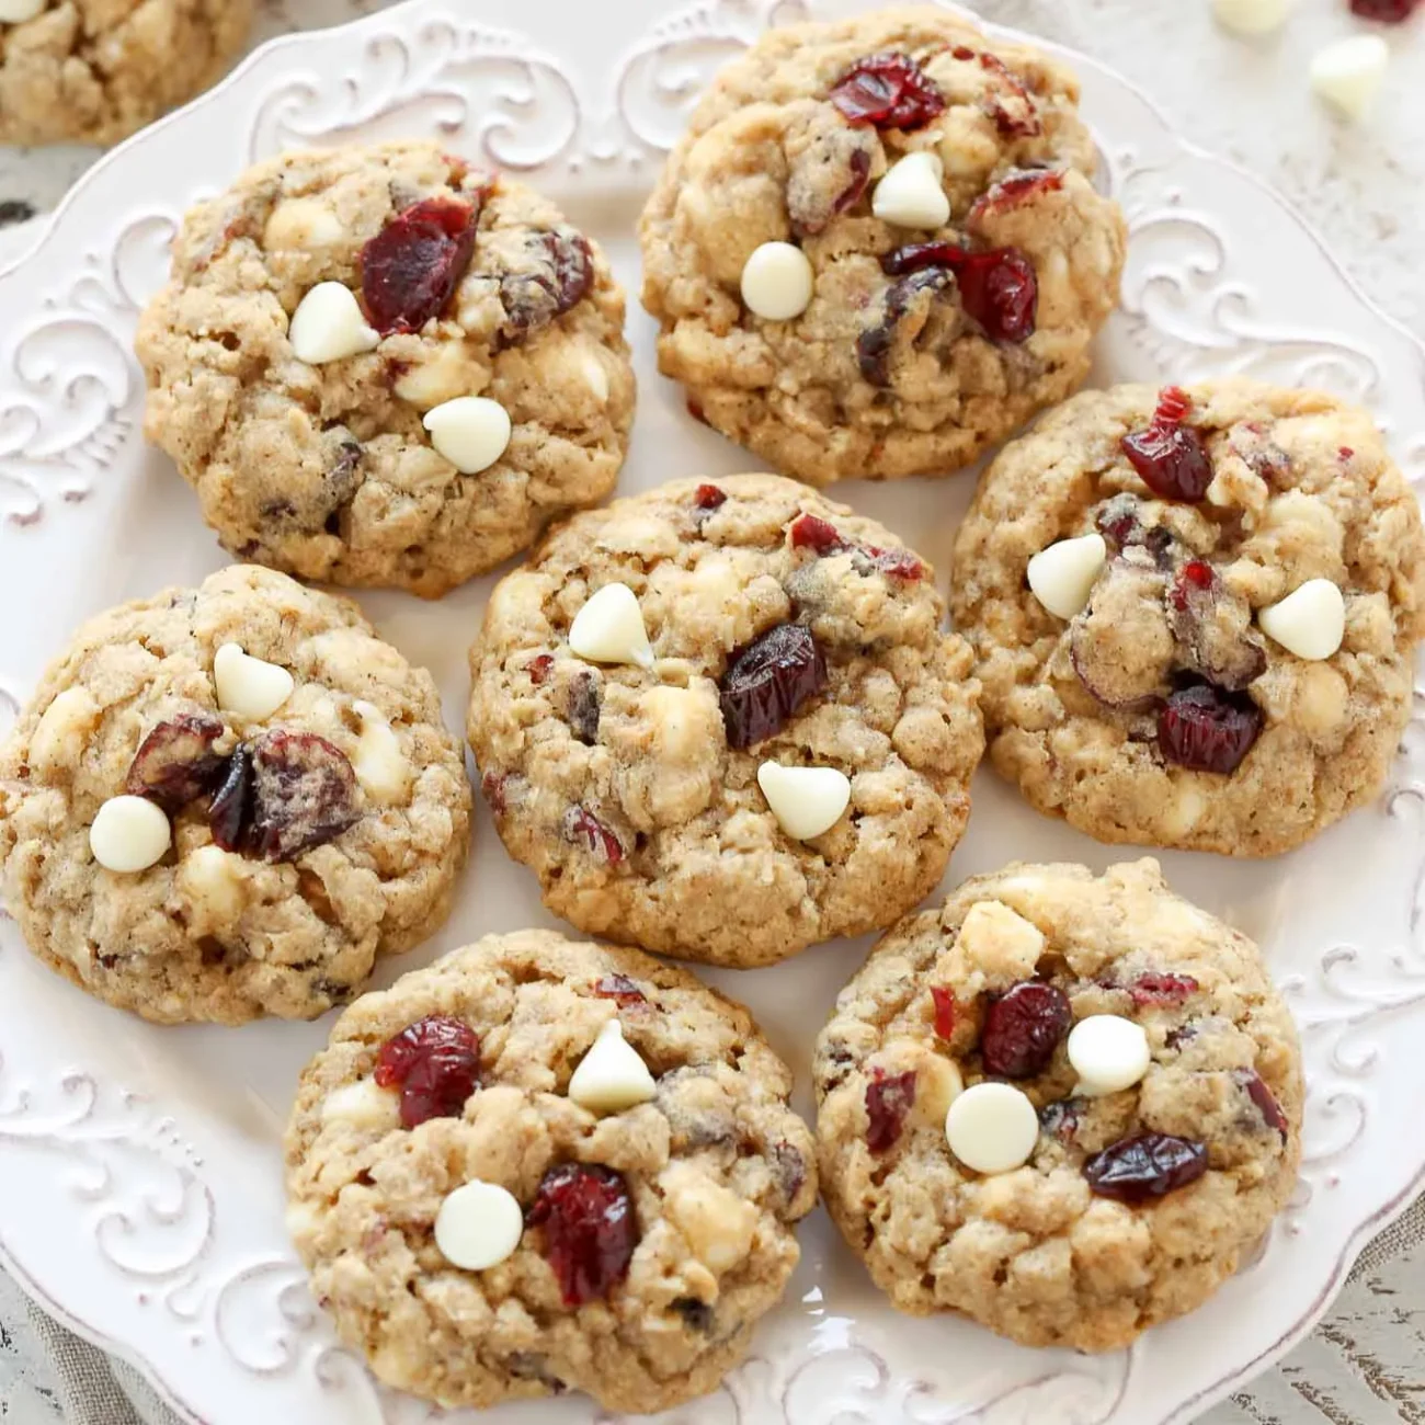
[[[161,1023],[345,1003],[445,921],[469,832],[430,675],[262,569],[93,618],[0,748],[30,948]]]

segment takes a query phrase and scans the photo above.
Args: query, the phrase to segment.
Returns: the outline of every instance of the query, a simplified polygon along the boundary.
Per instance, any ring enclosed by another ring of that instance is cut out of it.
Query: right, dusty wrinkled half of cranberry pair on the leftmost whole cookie
[[[252,822],[245,849],[291,861],[335,841],[361,819],[356,772],[315,732],[274,728],[252,744]]]

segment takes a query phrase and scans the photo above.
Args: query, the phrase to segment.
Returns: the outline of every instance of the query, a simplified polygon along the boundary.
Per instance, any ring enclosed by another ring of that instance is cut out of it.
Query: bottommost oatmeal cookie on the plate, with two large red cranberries
[[[817,1201],[791,1073],[637,950],[489,936],[366,995],[308,1066],[288,1223],[342,1338],[442,1405],[711,1391]]]

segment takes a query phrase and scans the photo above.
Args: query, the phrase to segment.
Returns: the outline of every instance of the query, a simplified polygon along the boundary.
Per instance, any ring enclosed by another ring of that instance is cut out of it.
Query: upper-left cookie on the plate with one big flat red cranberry
[[[623,321],[522,184],[435,144],[288,154],[184,221],[145,430],[238,557],[433,598],[613,489]]]

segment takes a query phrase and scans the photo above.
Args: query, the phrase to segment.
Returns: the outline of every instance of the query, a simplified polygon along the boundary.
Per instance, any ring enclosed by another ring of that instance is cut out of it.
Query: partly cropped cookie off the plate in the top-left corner
[[[252,0],[20,0],[0,20],[0,144],[117,144],[201,94]]]

